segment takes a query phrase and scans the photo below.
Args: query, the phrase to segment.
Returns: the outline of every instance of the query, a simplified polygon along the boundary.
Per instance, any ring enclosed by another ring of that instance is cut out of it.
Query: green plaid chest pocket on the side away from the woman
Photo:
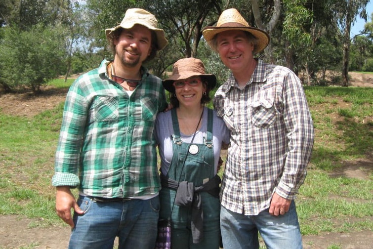
[[[96,96],[93,104],[94,119],[97,122],[118,121],[118,96]]]

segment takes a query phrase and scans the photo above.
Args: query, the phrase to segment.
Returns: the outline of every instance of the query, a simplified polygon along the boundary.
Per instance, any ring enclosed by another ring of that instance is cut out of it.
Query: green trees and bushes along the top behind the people
[[[220,13],[237,8],[253,27],[266,30],[271,42],[257,56],[289,67],[306,85],[328,85],[326,72],[372,71],[372,22],[350,38],[357,16],[367,20],[368,0],[3,0],[0,3],[0,85],[5,91],[30,88],[35,93],[58,75],[87,72],[112,54],[104,30],[114,27],[127,8],[156,15],[166,31],[167,47],[147,64],[155,74],[179,58],[198,57],[209,72],[226,79],[202,29]],[[15,73],[16,72],[16,73]]]

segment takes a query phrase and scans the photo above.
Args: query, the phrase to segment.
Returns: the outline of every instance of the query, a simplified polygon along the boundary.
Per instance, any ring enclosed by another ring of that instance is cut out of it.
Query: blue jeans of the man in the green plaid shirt
[[[74,214],[69,249],[154,249],[160,210],[159,197],[119,202],[96,202],[80,196],[83,215]]]

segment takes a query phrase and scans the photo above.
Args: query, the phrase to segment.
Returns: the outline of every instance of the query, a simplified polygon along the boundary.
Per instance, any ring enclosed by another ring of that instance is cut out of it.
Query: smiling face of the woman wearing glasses
[[[176,98],[180,106],[200,106],[206,85],[202,83],[200,77],[191,77],[185,80],[174,82]]]

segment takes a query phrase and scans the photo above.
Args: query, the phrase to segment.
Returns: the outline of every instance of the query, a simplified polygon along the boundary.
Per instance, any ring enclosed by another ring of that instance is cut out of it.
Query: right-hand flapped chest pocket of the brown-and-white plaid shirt
[[[252,125],[258,128],[268,128],[276,121],[274,98],[262,98],[253,101],[251,106]]]

